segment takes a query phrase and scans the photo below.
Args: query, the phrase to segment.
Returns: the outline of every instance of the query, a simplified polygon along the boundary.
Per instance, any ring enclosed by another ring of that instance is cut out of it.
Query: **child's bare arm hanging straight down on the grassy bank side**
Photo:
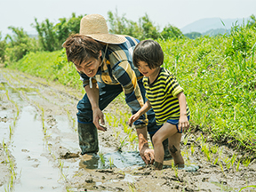
[[[177,98],[179,100],[180,104],[180,120],[179,120],[179,130],[188,130],[189,123],[188,123],[188,117],[187,117],[187,102],[186,102],[186,96],[184,92],[180,92],[177,95]]]

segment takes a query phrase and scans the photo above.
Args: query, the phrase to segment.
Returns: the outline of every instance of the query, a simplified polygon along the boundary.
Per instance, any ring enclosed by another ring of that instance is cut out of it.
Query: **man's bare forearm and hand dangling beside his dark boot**
[[[107,131],[107,128],[99,124],[99,120],[101,124],[105,124],[104,114],[99,108],[99,87],[97,83],[92,83],[92,88],[90,88],[89,84],[84,87],[85,92],[87,94],[88,99],[90,100],[92,111],[93,111],[93,124],[100,131]]]

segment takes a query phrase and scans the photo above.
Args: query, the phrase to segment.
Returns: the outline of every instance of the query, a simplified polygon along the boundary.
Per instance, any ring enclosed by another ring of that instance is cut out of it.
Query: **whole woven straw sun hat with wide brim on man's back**
[[[82,18],[80,22],[80,34],[91,36],[93,39],[106,44],[123,44],[124,36],[108,33],[107,22],[100,14],[89,14]]]

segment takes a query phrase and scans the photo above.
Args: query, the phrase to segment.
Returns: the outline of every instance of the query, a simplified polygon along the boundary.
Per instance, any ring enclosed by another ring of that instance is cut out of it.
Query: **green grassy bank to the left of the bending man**
[[[72,63],[68,63],[64,50],[56,52],[30,52],[21,60],[12,63],[9,68],[43,77],[48,81],[58,81],[60,84],[83,90],[82,81]]]

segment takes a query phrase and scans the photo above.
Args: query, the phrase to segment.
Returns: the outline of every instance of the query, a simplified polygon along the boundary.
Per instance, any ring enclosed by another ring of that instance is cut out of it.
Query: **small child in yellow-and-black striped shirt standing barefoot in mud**
[[[184,160],[180,154],[180,139],[182,131],[189,127],[190,111],[183,89],[167,69],[160,67],[164,62],[164,52],[157,42],[145,40],[137,44],[132,60],[134,66],[144,75],[143,84],[148,100],[136,114],[130,117],[129,124],[153,108],[156,124],[163,124],[152,138],[156,170],[163,168],[162,142],[167,138],[174,164],[184,167]]]

